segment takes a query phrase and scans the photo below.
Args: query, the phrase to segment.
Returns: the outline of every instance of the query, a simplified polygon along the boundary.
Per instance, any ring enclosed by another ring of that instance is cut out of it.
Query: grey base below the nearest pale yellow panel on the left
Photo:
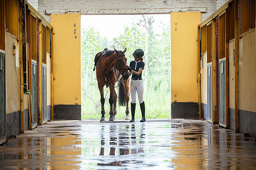
[[[20,134],[20,111],[6,114],[6,139]]]

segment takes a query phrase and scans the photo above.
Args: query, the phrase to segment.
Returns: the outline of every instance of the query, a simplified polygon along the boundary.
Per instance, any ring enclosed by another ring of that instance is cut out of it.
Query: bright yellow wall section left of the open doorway
[[[81,105],[80,14],[52,14],[53,103]],[[76,29],[76,33],[74,33]],[[75,37],[76,36],[76,37]]]

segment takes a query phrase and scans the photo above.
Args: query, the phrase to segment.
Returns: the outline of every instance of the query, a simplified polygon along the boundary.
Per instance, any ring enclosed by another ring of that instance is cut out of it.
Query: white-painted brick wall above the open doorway
[[[225,1],[227,0],[38,0],[38,9],[48,22],[51,14],[159,14],[189,10],[200,11],[203,21],[216,11],[216,6],[221,6]]]

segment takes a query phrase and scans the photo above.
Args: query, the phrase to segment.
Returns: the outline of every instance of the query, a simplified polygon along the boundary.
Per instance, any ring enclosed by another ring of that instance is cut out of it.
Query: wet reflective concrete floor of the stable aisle
[[[207,121],[52,121],[0,146],[0,169],[256,169],[255,151]]]

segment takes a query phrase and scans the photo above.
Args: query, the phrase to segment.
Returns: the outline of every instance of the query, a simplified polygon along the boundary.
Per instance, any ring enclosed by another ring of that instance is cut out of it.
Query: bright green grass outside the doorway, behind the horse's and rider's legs
[[[148,90],[147,96],[144,98],[146,107],[146,118],[171,118],[171,94],[166,91],[168,85],[167,83],[162,83],[161,86],[156,90]],[[90,120],[101,118],[101,104],[100,104],[100,92],[95,87],[94,103],[92,99],[82,95],[82,119]],[[88,89],[88,91],[90,91]],[[104,94],[108,94],[109,89],[105,88]],[[97,105],[97,107],[96,107]],[[129,116],[131,117],[131,109],[129,103]],[[125,118],[126,107],[119,107],[117,103],[117,115],[115,118],[124,119]],[[109,100],[105,100],[105,118],[109,118]],[[135,109],[135,118],[141,118],[141,108],[137,100]]]

